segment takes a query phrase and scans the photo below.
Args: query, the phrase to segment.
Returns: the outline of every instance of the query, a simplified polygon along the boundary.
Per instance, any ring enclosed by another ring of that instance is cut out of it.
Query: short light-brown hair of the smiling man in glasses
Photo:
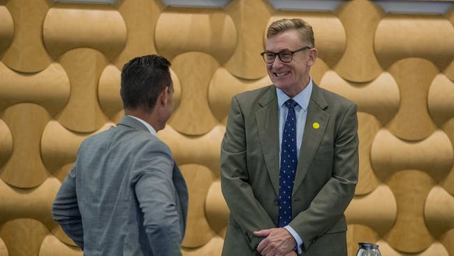
[[[266,38],[275,36],[289,29],[295,29],[301,38],[301,41],[307,42],[311,48],[315,47],[314,31],[312,26],[299,18],[276,20],[270,24],[266,31]]]

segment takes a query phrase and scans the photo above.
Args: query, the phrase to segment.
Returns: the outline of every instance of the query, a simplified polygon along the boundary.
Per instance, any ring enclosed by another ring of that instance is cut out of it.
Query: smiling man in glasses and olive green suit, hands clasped
[[[273,85],[232,99],[221,145],[223,255],[346,255],[357,106],[313,83],[314,47],[307,22],[273,22],[261,54]]]

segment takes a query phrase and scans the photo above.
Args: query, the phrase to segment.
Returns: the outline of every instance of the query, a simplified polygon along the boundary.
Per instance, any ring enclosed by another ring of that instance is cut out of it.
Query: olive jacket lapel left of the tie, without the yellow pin
[[[274,192],[279,194],[279,120],[274,86],[268,87],[258,104],[262,107],[256,112],[258,136]]]

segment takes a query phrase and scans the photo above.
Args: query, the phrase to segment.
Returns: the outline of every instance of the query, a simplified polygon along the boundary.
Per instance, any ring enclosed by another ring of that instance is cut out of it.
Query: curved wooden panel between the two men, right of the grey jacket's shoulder
[[[225,132],[226,127],[217,125],[203,136],[185,136],[167,125],[158,136],[170,147],[178,164],[198,163],[207,166],[219,177],[221,141]]]

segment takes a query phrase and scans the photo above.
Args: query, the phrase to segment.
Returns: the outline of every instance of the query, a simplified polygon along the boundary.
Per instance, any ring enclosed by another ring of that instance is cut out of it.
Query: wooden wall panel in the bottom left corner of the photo
[[[31,219],[11,220],[0,228],[0,237],[11,256],[38,255],[48,233],[41,222]]]

